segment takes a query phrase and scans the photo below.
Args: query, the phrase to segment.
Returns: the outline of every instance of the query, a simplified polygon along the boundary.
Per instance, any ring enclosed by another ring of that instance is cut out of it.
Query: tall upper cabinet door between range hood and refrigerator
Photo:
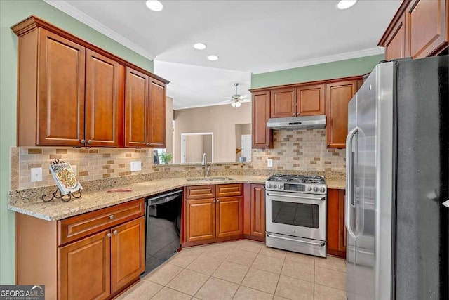
[[[356,91],[356,80],[326,84],[326,148],[346,148],[348,103]]]

